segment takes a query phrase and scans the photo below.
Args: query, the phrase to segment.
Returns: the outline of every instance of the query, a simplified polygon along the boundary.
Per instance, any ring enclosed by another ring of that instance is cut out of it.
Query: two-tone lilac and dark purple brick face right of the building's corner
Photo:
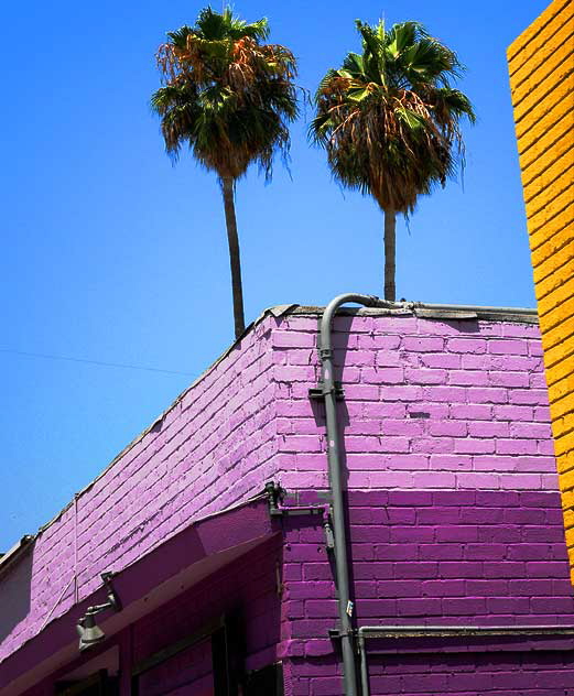
[[[290,336],[274,355],[281,480],[297,502],[321,502],[324,414],[307,399],[316,318],[279,330]],[[335,346],[359,626],[574,622],[538,327],[347,316]],[[286,693],[334,696],[333,570],[321,524],[300,524],[284,556]],[[574,684],[572,641],[466,642],[464,657],[447,648],[370,654],[373,696],[564,696]]]

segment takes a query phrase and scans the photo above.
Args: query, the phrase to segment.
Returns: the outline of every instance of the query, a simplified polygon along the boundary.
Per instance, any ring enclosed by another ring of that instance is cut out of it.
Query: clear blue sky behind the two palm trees
[[[466,129],[464,191],[453,182],[421,200],[410,233],[399,222],[399,296],[533,306],[505,51],[546,4],[235,4],[247,20],[269,18],[311,90],[358,50],[356,18],[419,20],[466,64],[461,88],[478,122]],[[172,167],[148,106],[156,46],[201,7],[4,8],[0,551],[57,513],[232,340],[216,178],[188,156]],[[292,131],[292,181],[278,163],[271,185],[253,171],[237,187],[248,320],[274,304],[382,293],[381,214],[332,181],[306,143],[310,118]]]

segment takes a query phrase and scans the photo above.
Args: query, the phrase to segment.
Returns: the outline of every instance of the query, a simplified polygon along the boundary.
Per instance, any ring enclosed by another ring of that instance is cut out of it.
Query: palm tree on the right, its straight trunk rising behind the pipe
[[[450,85],[463,69],[456,54],[421,24],[356,24],[362,53],[326,73],[310,135],[326,149],[335,178],[383,210],[385,298],[394,302],[397,214],[412,213],[421,194],[464,164],[459,119],[475,115]]]

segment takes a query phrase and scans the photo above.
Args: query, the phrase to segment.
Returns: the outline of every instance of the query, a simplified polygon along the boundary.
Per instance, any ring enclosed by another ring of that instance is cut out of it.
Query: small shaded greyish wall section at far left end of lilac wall
[[[32,559],[29,550],[7,569],[4,577],[0,575],[0,643],[30,612]]]

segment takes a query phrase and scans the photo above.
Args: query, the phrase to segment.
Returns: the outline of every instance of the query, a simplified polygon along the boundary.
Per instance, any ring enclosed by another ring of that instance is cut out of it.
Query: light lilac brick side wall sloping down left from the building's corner
[[[76,576],[83,599],[101,572],[121,570],[272,478],[270,327],[263,319],[39,534],[21,616],[2,611],[14,598],[0,578],[0,661],[74,605]]]

